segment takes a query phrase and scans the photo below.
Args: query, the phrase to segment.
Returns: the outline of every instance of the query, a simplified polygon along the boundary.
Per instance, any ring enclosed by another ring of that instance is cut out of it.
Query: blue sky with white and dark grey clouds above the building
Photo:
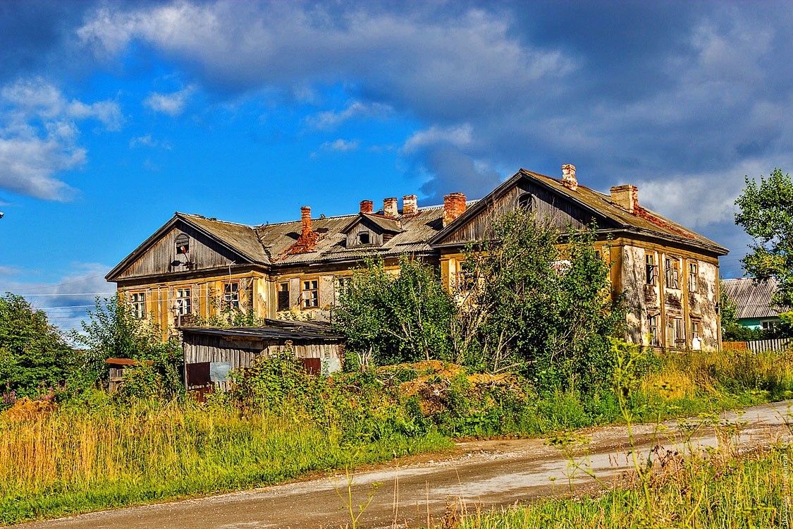
[[[427,205],[563,163],[638,186],[739,276],[733,201],[793,158],[791,20],[774,2],[0,2],[0,291],[71,328],[174,211]]]

